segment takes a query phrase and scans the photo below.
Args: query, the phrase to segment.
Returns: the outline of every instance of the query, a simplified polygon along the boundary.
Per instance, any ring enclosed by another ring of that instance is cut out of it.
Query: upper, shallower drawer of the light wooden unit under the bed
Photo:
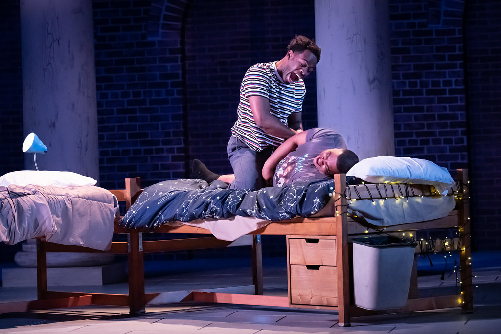
[[[336,239],[288,238],[290,264],[336,265]]]

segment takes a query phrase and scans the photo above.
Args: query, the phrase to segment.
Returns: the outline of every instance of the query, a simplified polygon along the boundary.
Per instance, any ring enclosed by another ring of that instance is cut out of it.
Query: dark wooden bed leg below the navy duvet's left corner
[[[143,233],[131,230],[128,234],[127,247],[129,313],[144,313],[146,311],[146,297],[144,295]]]

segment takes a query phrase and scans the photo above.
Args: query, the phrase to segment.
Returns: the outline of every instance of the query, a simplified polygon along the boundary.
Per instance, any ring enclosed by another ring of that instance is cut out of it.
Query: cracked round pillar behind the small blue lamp
[[[98,180],[92,0],[21,0],[20,7],[24,133],[48,147],[37,165]],[[25,161],[35,169],[32,154]]]

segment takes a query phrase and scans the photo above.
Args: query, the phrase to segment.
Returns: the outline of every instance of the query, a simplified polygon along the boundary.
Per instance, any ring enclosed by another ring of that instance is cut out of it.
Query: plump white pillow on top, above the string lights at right
[[[363,159],[346,175],[356,176],[370,183],[431,184],[442,195],[446,195],[454,184],[447,169],[431,161],[387,155]]]

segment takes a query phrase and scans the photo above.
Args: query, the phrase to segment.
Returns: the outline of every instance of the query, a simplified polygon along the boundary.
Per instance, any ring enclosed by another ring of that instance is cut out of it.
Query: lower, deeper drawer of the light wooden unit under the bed
[[[338,305],[337,267],[290,266],[290,302],[304,305]]]

